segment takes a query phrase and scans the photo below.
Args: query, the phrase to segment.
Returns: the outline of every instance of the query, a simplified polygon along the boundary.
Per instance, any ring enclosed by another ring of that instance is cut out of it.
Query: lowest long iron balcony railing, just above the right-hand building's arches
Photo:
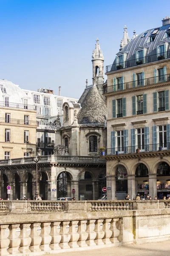
[[[110,156],[118,154],[134,154],[134,153],[146,153],[155,151],[170,150],[170,143],[156,143],[147,145],[136,145],[129,147],[118,147],[118,148],[106,148],[105,151],[100,151],[101,156]]]

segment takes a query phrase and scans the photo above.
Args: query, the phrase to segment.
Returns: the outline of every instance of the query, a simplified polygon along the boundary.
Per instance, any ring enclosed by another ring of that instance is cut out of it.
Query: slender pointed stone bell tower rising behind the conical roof
[[[99,89],[99,92],[102,94],[103,87],[103,63],[104,56],[102,50],[100,49],[99,39],[96,39],[96,47],[93,50],[92,54],[92,65],[93,65],[93,84],[96,85]]]

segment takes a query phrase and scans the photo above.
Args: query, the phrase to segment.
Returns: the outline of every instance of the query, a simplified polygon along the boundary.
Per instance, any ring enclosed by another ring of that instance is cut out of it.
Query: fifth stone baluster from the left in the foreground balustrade
[[[50,226],[51,222],[42,222],[41,223],[41,233],[40,236],[42,237],[40,249],[42,251],[50,251],[51,248],[49,244],[51,242],[52,237],[48,234],[48,227]]]

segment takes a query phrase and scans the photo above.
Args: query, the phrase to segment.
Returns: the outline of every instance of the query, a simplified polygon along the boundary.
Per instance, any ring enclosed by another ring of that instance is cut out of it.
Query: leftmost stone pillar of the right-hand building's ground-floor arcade
[[[116,199],[116,176],[110,175],[106,176],[107,183],[107,200],[115,200]]]

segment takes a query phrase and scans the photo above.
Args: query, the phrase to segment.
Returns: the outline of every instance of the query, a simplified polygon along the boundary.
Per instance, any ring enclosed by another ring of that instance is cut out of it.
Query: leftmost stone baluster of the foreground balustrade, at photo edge
[[[0,225],[0,255],[8,255],[8,246],[10,243],[10,240],[6,238],[5,236],[5,230],[8,228],[9,225]]]

